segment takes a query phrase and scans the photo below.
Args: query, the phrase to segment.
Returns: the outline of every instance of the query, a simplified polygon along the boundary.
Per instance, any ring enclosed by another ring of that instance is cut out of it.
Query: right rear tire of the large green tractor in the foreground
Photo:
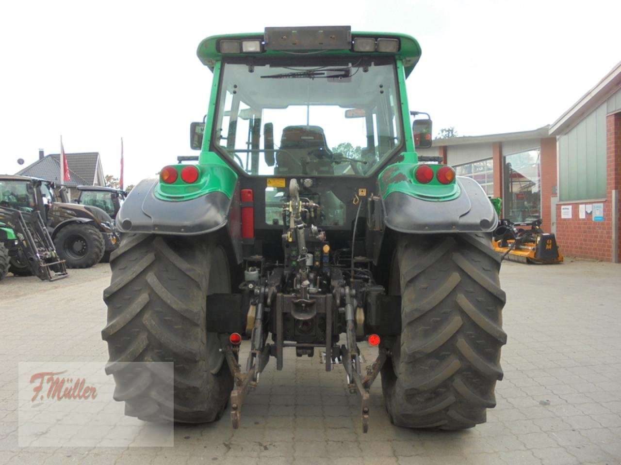
[[[382,370],[396,425],[460,430],[486,421],[502,379],[505,293],[491,234],[406,235],[392,261],[401,337]]]

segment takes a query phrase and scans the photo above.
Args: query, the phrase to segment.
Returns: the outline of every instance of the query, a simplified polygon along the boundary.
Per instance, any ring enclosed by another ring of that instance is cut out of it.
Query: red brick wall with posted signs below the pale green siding
[[[612,190],[619,191],[621,187],[621,113],[609,115],[606,126],[607,187],[606,200],[602,202],[604,221],[593,221],[592,215],[579,219],[579,205],[593,203],[591,201],[564,203],[572,206],[571,219],[562,219],[561,205],[557,205],[556,241],[564,255],[610,262],[619,260],[619,257],[612,256]],[[619,215],[619,211],[615,213]]]

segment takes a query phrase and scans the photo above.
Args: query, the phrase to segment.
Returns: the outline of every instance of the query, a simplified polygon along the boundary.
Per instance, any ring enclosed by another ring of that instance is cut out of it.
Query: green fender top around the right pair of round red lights
[[[441,184],[435,177],[438,169],[445,165],[428,165],[434,173],[433,179],[428,184],[420,184],[416,180],[414,171],[419,166],[418,163],[404,160],[386,167],[379,174],[379,190],[382,197],[386,198],[393,192],[429,201],[453,200],[460,196],[460,187],[455,180],[451,184]]]

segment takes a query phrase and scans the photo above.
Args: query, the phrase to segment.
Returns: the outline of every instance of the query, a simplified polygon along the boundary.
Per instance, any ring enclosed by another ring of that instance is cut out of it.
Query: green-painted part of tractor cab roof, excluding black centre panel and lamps
[[[312,52],[311,56],[351,56],[354,59],[361,56],[394,56],[397,60],[402,60],[406,72],[406,76],[409,76],[420,59],[420,45],[414,37],[406,34],[396,34],[394,32],[351,32],[351,38],[356,37],[384,37],[384,38],[397,38],[401,42],[401,48],[396,53],[360,53],[351,50],[325,50],[320,53]],[[217,43],[220,39],[228,40],[263,40],[263,33],[245,33],[245,34],[226,34],[226,35],[212,35],[203,40],[196,55],[201,60],[201,63],[205,66],[209,66],[209,69],[214,69],[217,63],[225,56],[232,57],[254,57],[254,58],[291,58],[291,51],[276,51],[268,50],[262,53],[237,53],[235,55],[222,55],[217,51]],[[301,55],[304,52],[301,53]]]

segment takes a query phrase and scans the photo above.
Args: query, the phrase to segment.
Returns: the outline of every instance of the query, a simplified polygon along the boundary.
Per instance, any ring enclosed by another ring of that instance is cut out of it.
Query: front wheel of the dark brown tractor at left
[[[92,224],[68,224],[54,237],[58,256],[68,268],[90,268],[104,256],[105,243],[101,232]]]

